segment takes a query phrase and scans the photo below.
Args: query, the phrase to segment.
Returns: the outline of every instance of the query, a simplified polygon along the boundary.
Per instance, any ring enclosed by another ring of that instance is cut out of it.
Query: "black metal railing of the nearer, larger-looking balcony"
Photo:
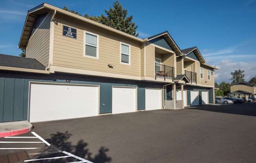
[[[157,76],[174,78],[174,67],[155,63],[155,79]]]

